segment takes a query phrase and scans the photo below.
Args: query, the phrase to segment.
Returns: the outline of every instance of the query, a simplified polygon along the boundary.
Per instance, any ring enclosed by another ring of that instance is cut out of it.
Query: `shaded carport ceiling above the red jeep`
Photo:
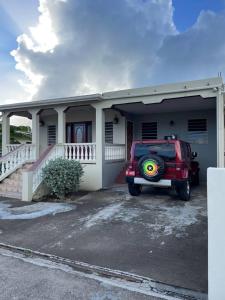
[[[216,98],[202,98],[185,97],[176,99],[165,99],[161,103],[156,104],[143,104],[142,102],[119,104],[114,108],[122,112],[141,115],[141,114],[153,114],[153,113],[167,113],[167,112],[179,112],[179,111],[193,111],[193,110],[208,110],[216,108]]]

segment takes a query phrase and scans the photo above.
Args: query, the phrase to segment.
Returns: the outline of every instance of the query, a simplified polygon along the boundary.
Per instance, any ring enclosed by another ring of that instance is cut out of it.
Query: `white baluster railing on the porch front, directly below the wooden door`
[[[63,144],[64,158],[69,160],[79,160],[84,162],[95,162],[96,161],[96,144],[85,143],[85,144]]]

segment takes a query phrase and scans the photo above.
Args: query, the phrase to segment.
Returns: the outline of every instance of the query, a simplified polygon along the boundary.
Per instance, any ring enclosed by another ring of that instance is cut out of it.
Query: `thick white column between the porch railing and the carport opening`
[[[99,188],[103,187],[103,165],[105,162],[105,112],[96,107],[96,166],[99,176]]]

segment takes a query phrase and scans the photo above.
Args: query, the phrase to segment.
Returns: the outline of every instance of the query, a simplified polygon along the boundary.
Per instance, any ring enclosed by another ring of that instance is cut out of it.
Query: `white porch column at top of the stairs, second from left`
[[[35,145],[35,159],[39,158],[40,151],[40,109],[33,109],[30,111],[32,115],[32,144]]]

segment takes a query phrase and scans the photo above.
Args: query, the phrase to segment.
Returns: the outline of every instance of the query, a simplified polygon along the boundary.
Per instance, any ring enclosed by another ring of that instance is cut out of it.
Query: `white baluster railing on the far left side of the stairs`
[[[34,161],[35,145],[23,144],[0,158],[0,181],[23,164]]]

